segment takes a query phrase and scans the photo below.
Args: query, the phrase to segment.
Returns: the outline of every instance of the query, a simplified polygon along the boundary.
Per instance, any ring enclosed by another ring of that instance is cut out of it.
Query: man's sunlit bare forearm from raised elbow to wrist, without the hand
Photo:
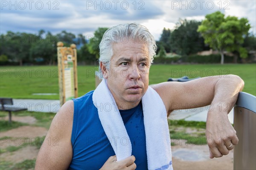
[[[243,88],[244,81],[239,76],[223,75],[215,84],[212,107],[229,113]]]

